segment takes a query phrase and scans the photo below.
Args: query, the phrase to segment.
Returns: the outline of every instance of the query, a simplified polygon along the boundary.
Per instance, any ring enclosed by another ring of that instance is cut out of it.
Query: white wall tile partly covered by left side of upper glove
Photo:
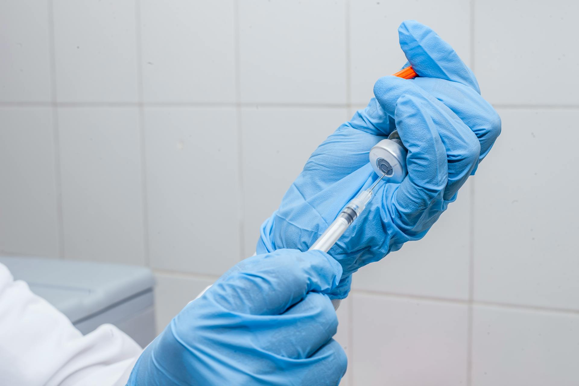
[[[255,253],[259,227],[279,207],[308,157],[345,119],[345,108],[241,110],[246,256]]]

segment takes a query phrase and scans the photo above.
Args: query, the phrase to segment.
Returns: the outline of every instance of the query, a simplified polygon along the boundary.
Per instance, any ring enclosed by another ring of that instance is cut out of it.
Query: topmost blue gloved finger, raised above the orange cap
[[[459,82],[481,93],[471,69],[430,27],[405,20],[398,27],[398,38],[406,59],[419,76]]]

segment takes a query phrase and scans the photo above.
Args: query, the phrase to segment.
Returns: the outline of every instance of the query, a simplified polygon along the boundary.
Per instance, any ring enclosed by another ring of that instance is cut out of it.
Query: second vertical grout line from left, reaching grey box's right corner
[[[145,150],[145,112],[144,112],[144,93],[143,93],[143,71],[142,71],[142,37],[141,37],[141,1],[135,0],[135,49],[137,56],[137,108],[139,120],[139,147],[141,155],[141,210],[142,210],[142,236],[143,236],[143,254],[145,266],[151,267],[151,253],[149,250],[149,200],[147,194],[146,181],[146,150]]]

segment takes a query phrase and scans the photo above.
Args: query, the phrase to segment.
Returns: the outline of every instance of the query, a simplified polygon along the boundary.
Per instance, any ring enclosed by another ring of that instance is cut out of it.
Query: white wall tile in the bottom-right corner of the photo
[[[579,315],[474,307],[472,385],[577,385]]]

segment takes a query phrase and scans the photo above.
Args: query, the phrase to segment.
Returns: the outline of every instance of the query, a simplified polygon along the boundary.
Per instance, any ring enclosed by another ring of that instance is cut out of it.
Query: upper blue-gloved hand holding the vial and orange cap
[[[448,43],[416,21],[405,21],[398,33],[420,78],[376,82],[376,98],[318,146],[278,211],[263,223],[256,247],[258,253],[309,248],[343,206],[378,178],[369,150],[398,128],[409,150],[408,177],[400,184],[379,183],[365,211],[329,250],[343,267],[331,294],[338,299],[347,296],[351,273],[424,237],[500,133],[499,116]]]

